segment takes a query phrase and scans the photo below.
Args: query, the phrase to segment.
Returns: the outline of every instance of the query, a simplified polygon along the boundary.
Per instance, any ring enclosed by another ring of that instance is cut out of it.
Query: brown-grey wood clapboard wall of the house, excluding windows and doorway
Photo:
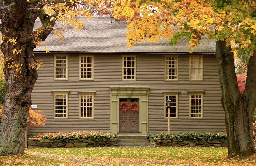
[[[189,81],[189,55],[179,55],[179,81],[165,81],[164,55],[137,55],[137,81],[122,81],[122,55],[94,55],[94,80],[79,80],[79,55],[69,55],[69,80],[53,80],[53,54],[37,54],[45,66],[38,69],[38,80],[32,92],[32,103],[47,115],[45,126],[30,133],[64,131],[110,131],[111,85],[146,85],[149,91],[149,133],[167,132],[162,91],[179,93],[179,118],[171,119],[173,132],[223,131],[225,115],[221,105],[217,64],[214,55],[203,56],[203,81]],[[70,90],[69,119],[53,119],[52,90]],[[203,90],[203,118],[189,118],[189,90]],[[78,91],[96,91],[94,119],[79,119]]]

